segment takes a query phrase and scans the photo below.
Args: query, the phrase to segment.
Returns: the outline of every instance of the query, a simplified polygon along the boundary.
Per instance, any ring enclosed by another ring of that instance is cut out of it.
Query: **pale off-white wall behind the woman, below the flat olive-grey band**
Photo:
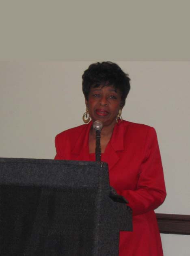
[[[82,124],[82,73],[94,61],[0,62],[0,156],[54,158],[57,133]],[[116,61],[131,78],[123,119],[153,126],[167,197],[156,212],[190,214],[190,62]],[[190,236],[162,234],[164,255]]]

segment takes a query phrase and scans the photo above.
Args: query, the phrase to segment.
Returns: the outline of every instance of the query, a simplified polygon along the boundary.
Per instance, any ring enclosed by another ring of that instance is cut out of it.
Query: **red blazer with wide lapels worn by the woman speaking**
[[[55,159],[90,161],[91,125],[58,134]],[[116,124],[101,160],[108,163],[110,186],[133,210],[133,231],[120,232],[119,256],[162,256],[154,209],[164,201],[166,189],[154,128],[124,120]]]

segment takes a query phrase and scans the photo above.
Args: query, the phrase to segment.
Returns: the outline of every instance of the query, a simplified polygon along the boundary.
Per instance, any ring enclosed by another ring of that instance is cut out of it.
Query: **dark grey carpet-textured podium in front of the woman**
[[[1,256],[117,256],[132,212],[106,163],[0,158],[0,226]]]

